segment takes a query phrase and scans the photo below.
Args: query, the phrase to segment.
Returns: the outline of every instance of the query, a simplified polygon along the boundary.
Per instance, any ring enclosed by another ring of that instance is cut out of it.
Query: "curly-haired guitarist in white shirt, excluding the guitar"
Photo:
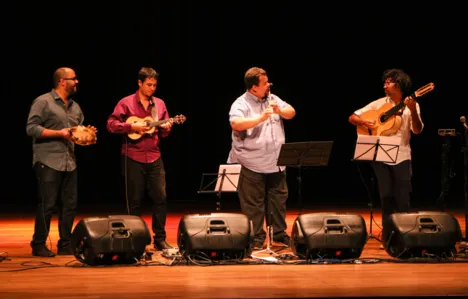
[[[393,213],[409,212],[411,193],[411,132],[419,134],[424,124],[421,120],[419,104],[411,96],[411,78],[400,69],[389,69],[382,75],[385,97],[356,110],[349,122],[355,126],[375,129],[376,120],[361,116],[370,110],[379,110],[384,104],[395,106],[402,101],[404,105],[397,115],[401,118],[398,130],[392,136],[401,137],[396,163],[374,163],[372,168],[377,177],[382,207],[382,224]],[[381,247],[383,248],[383,247]]]

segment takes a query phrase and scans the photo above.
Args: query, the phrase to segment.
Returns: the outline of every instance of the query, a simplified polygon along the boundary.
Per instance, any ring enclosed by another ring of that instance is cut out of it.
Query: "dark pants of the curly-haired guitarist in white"
[[[382,206],[382,224],[393,213],[404,213],[410,210],[411,194],[411,161],[406,160],[397,165],[374,163],[372,165],[379,186]]]

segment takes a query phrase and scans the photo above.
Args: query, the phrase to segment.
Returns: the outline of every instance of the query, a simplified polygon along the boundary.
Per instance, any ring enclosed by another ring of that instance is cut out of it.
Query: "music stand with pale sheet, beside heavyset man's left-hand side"
[[[221,211],[221,194],[222,192],[237,192],[237,183],[240,175],[240,164],[221,164],[219,165],[218,173],[203,173],[200,183],[199,194],[216,194],[218,201],[216,202],[216,211]],[[206,176],[216,176],[209,184],[203,187]],[[212,187],[213,190],[208,188]]]

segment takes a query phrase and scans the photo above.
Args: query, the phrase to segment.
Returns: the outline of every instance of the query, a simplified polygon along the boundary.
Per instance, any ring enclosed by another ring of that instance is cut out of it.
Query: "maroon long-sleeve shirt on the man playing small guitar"
[[[127,123],[130,116],[138,118],[151,117],[153,120],[169,119],[166,104],[160,98],[152,97],[148,109],[145,110],[138,92],[121,99],[114,112],[107,119],[107,130],[111,133],[125,134],[122,138],[122,155],[141,163],[152,163],[161,157],[159,149],[160,138],[166,137],[170,129],[156,128],[153,134],[143,134],[139,139],[127,137],[131,132],[131,124]]]

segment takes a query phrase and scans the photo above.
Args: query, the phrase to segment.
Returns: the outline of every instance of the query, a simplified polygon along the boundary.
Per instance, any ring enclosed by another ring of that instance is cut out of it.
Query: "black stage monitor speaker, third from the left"
[[[305,259],[358,258],[366,239],[366,223],[361,215],[304,214],[294,221],[291,249]]]

